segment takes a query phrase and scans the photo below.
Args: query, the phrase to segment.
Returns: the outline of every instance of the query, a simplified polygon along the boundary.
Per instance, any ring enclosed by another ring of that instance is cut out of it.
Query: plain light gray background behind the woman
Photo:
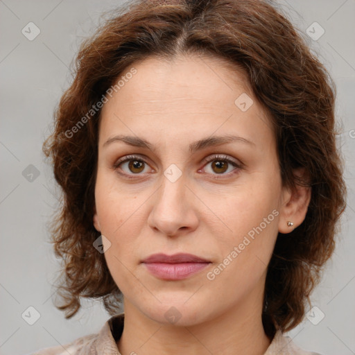
[[[315,325],[305,318],[288,335],[300,347],[324,355],[355,354],[355,0],[278,2],[336,82],[342,132],[338,144],[349,187],[336,252],[312,297],[320,311],[315,309],[310,319],[318,322],[322,313],[324,319]],[[102,12],[119,4],[108,0],[0,1],[2,355],[68,343],[97,332],[109,318],[98,302],[85,302],[72,320],[64,320],[64,314],[53,306],[51,284],[58,275],[58,260],[48,243],[46,223],[58,191],[41,148],[53,108],[71,82],[69,64],[78,44],[93,33]],[[21,33],[31,21],[41,31],[33,41]],[[306,34],[315,21],[325,31],[319,40]],[[40,313],[33,325],[21,318],[28,306]]]

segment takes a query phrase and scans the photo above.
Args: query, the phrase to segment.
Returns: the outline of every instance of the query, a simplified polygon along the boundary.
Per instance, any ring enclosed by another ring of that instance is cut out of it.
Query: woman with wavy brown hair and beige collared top
[[[58,308],[112,318],[35,354],[315,354],[283,333],[345,208],[334,89],[266,1],[130,2],[80,48],[44,151]]]

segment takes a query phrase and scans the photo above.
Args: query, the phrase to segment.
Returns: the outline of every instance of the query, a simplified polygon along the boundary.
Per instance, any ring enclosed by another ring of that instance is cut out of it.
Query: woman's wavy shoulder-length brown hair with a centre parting
[[[110,315],[119,311],[121,291],[104,254],[93,248],[100,236],[93,225],[96,105],[134,63],[188,54],[243,70],[275,128],[283,186],[311,187],[304,222],[287,236],[279,233],[266,276],[263,327],[268,336],[289,331],[302,321],[334,251],[346,189],[336,148],[335,85],[282,11],[261,0],[130,1],[81,44],[73,82],[43,146],[62,190],[51,224],[51,243],[63,263],[58,293],[64,303],[56,306],[71,318],[80,297],[99,298]],[[306,179],[295,174],[297,168]]]

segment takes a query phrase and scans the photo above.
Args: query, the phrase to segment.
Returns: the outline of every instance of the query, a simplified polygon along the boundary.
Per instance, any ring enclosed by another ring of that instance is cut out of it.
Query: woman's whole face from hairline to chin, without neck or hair
[[[101,113],[94,216],[125,309],[191,325],[261,307],[290,198],[270,120],[219,59],[133,67]]]

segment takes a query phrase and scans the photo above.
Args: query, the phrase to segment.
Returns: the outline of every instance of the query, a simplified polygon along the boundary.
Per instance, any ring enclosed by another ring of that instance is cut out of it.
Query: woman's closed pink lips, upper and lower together
[[[210,261],[193,254],[153,254],[142,261],[148,271],[165,280],[186,279],[202,270]]]

